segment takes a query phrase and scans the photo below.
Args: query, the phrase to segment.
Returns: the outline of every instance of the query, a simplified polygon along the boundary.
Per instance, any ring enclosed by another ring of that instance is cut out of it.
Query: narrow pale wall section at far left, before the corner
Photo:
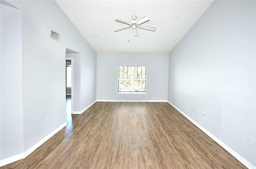
[[[22,111],[22,13],[0,4],[0,154],[7,158],[24,151]]]

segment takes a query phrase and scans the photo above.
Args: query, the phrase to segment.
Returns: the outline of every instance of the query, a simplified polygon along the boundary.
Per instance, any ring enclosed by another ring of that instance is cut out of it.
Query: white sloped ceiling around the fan
[[[168,54],[196,23],[213,0],[56,0],[96,53]],[[137,16],[156,31],[132,28],[114,32]],[[94,37],[97,34],[98,37]],[[130,42],[128,42],[130,41]]]

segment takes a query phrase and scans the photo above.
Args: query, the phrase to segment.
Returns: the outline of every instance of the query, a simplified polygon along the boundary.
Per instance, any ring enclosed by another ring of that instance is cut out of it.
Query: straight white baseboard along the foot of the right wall
[[[206,130],[204,127],[202,127],[200,124],[198,124],[195,120],[190,118],[188,115],[186,115],[182,110],[177,108],[174,104],[167,101],[172,107],[174,107],[178,112],[180,112],[183,116],[185,116],[190,122],[192,122],[194,125],[196,125],[200,130],[202,130],[205,134],[207,134],[212,140],[214,140],[216,143],[218,143],[221,147],[223,147],[226,151],[228,151],[232,156],[234,156],[238,161],[240,161],[243,165],[245,165],[248,169],[256,169],[256,166],[252,165],[249,161],[244,159],[241,155],[236,153],[233,149],[228,147],[225,143],[223,143],[221,140],[219,140],[216,136],[214,136],[212,133],[210,133],[208,130]]]

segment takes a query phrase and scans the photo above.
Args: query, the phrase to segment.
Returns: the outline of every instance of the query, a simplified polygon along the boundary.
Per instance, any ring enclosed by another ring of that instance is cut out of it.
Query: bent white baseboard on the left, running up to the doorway
[[[42,145],[44,142],[46,142],[47,140],[49,140],[49,138],[51,138],[52,136],[54,136],[54,134],[56,134],[57,132],[59,132],[62,128],[64,128],[67,125],[67,123],[65,122],[64,124],[62,124],[61,126],[59,126],[58,128],[56,128],[54,131],[52,131],[50,134],[48,134],[46,137],[44,137],[42,140],[38,141],[35,145],[33,145],[32,147],[30,147],[29,149],[27,149],[24,153],[20,153],[17,155],[14,155],[12,157],[8,157],[6,159],[2,159],[0,161],[0,167],[13,163],[15,161],[21,160],[26,158],[28,155],[30,155],[33,151],[35,151],[38,147],[40,147],[40,145]]]

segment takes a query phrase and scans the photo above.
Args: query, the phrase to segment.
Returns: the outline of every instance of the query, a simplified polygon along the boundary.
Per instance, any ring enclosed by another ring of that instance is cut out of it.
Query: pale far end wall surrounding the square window
[[[118,94],[118,65],[146,65],[146,94]],[[159,93],[159,94],[158,94]],[[168,54],[97,54],[97,100],[167,100]]]

